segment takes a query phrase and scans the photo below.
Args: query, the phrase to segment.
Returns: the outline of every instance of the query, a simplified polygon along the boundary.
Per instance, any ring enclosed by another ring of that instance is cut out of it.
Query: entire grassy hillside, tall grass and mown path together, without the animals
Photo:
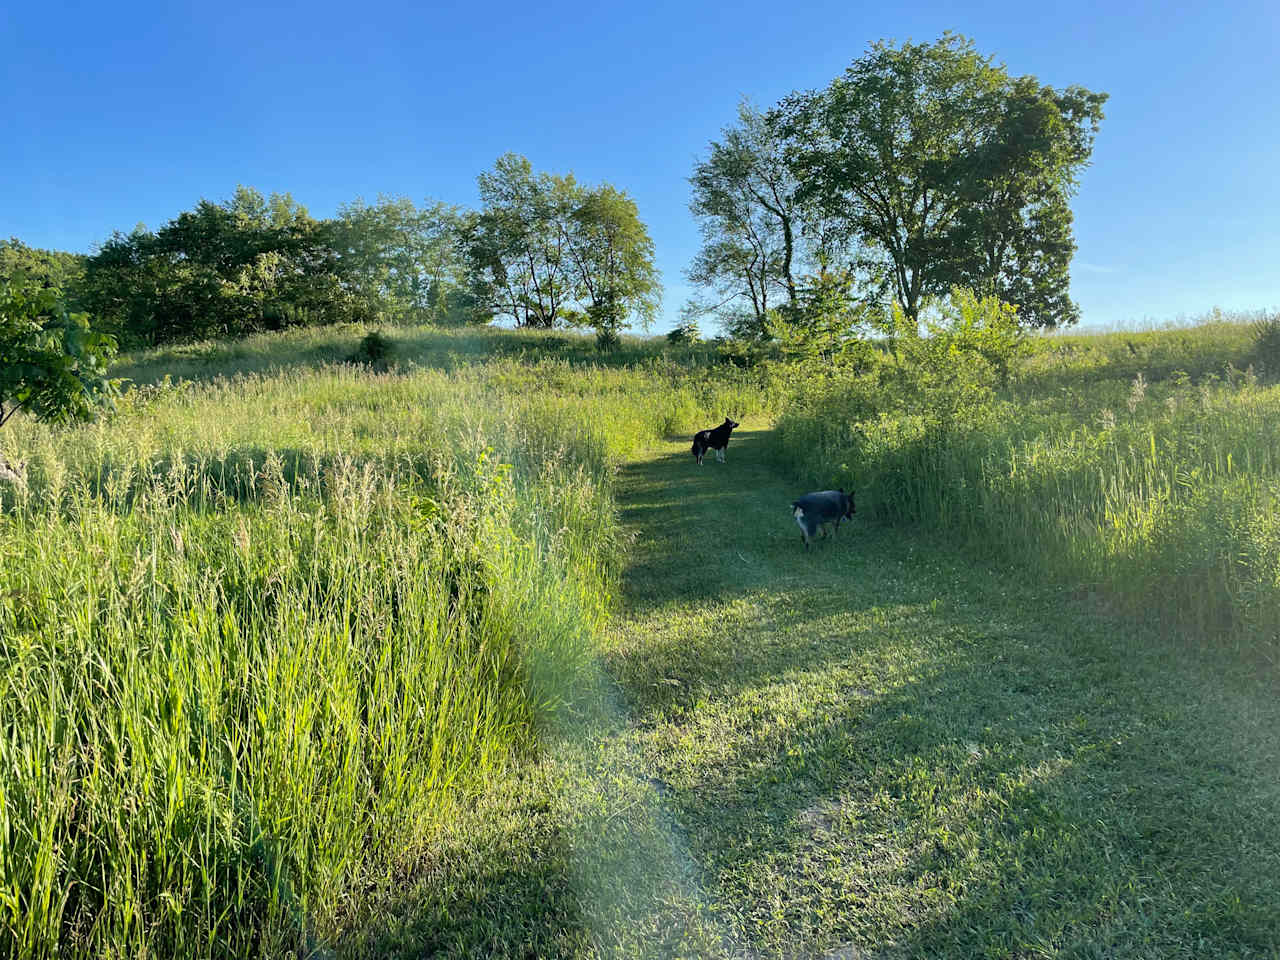
[[[1280,948],[1254,325],[1037,338],[945,421],[367,333],[134,353],[111,417],[0,433],[0,952]],[[841,484],[805,554],[788,492]]]

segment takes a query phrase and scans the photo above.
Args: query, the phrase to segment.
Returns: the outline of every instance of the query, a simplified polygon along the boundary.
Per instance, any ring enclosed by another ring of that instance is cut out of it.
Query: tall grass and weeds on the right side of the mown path
[[[780,417],[778,456],[809,483],[856,488],[883,521],[1275,658],[1280,388],[1234,367],[1249,352],[1238,337],[1210,364],[1216,333],[1148,334],[1158,380],[1071,379],[1033,355],[1016,390],[947,421],[869,401],[865,378],[815,384]],[[1194,364],[1217,372],[1196,383],[1181,372]]]

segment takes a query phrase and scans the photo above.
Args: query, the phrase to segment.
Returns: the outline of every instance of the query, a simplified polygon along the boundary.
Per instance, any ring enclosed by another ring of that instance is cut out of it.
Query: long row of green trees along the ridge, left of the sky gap
[[[660,284],[635,201],[612,184],[535,174],[521,156],[479,177],[483,207],[355,201],[316,219],[289,193],[238,187],[88,256],[0,243],[19,271],[119,340],[154,346],[366,323],[588,326],[605,346],[654,316]]]

